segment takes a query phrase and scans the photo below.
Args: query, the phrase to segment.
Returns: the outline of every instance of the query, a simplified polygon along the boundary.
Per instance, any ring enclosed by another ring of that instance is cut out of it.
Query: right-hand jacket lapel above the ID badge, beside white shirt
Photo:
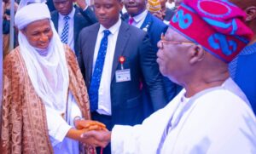
[[[125,24],[125,22],[122,21],[122,24],[119,29],[119,35],[117,37],[114,55],[113,55],[111,81],[113,80],[114,73],[117,69],[117,66],[119,65],[119,57],[123,54],[125,50],[125,45],[129,40],[130,33],[128,30],[129,30],[129,25]]]

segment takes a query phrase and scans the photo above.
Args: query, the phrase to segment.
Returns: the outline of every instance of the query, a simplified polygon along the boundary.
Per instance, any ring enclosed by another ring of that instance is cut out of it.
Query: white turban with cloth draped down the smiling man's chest
[[[21,0],[22,1],[22,0]],[[27,4],[27,0],[25,0]],[[30,1],[31,2],[31,1]],[[24,4],[24,3],[22,3]],[[26,71],[36,93],[48,111],[61,115],[67,110],[69,76],[64,44],[50,20],[49,9],[45,3],[30,3],[20,7],[15,15],[19,30],[37,20],[49,19],[53,37],[48,48],[33,47],[26,35],[19,31],[20,54],[25,61]],[[30,31],[30,29],[26,29]],[[46,54],[42,54],[46,53]]]

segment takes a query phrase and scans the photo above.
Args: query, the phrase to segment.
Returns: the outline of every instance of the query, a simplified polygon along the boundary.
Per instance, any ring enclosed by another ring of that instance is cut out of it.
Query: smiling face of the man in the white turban
[[[27,25],[21,32],[26,36],[28,43],[34,48],[48,48],[50,39],[53,37],[48,19],[36,20]]]

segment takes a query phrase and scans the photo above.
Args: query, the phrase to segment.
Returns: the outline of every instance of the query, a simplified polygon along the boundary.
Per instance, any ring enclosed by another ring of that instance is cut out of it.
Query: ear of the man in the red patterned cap
[[[195,63],[203,60],[205,54],[204,48],[201,45],[194,45],[192,48],[189,48],[189,63],[194,65]]]

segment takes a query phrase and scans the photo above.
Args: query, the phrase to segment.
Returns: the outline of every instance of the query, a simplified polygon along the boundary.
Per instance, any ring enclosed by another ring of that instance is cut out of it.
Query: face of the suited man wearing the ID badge
[[[119,20],[123,3],[121,0],[95,0],[94,8],[99,23],[105,28],[110,28]]]

